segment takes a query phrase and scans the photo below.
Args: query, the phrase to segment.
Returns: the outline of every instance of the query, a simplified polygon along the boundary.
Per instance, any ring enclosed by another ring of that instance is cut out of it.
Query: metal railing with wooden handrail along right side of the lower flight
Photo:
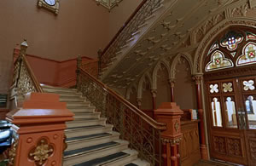
[[[160,133],[166,129],[165,123],[157,123],[81,67],[77,86],[96,110],[102,112],[102,117],[113,124],[120,138],[128,140],[130,147],[139,152],[139,157],[152,165],[162,165]]]

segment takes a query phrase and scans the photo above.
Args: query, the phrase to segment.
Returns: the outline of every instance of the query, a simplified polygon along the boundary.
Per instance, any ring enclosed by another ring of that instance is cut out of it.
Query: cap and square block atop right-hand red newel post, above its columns
[[[166,130],[161,137],[166,142],[177,143],[182,138],[180,118],[183,111],[175,102],[161,103],[157,110],[154,110],[155,120],[159,123],[166,123]]]

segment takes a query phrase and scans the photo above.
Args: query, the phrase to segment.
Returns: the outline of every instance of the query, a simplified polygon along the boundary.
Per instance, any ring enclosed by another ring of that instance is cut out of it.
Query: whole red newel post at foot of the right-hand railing
[[[166,123],[167,128],[161,133],[165,166],[180,165],[179,142],[183,137],[180,123],[182,114],[183,111],[175,102],[162,103],[157,110],[154,110],[155,120],[159,123]]]

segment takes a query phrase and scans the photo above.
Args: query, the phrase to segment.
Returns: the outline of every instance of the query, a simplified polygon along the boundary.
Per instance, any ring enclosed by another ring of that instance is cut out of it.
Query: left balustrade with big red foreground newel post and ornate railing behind
[[[15,100],[15,106],[6,115],[13,131],[12,146],[6,152],[9,166],[61,165],[67,147],[64,129],[73,113],[58,94],[43,93],[26,60],[26,48],[24,41],[14,63],[10,100]]]

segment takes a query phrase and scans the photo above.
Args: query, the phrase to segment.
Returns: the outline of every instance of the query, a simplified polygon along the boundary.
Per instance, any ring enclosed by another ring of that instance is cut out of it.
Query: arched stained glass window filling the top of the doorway
[[[220,34],[207,52],[205,72],[256,63],[256,34],[249,28],[233,28]]]

